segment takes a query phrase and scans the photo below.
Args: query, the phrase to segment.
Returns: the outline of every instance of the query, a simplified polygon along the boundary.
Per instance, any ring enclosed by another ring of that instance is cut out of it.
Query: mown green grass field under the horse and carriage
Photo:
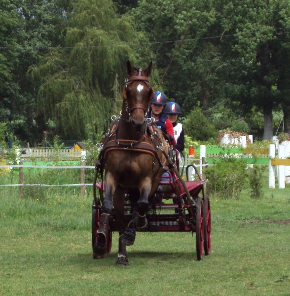
[[[137,233],[130,265],[93,259],[90,193],[18,198],[0,189],[0,295],[290,296],[290,186],[211,199],[212,252],[191,233]]]

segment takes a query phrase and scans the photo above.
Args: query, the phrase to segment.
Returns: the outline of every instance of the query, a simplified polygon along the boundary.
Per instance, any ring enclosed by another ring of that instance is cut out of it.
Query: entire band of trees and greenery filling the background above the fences
[[[6,145],[43,131],[95,140],[120,109],[128,59],[153,61],[154,90],[181,105],[194,140],[290,133],[288,0],[2,0],[0,19]]]

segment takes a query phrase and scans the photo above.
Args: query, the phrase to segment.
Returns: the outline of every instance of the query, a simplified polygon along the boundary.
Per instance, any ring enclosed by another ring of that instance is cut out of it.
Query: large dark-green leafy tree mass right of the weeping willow
[[[171,64],[163,87],[181,108],[186,106],[185,112],[200,102],[209,115],[209,108],[227,102],[250,122],[254,108],[262,111],[264,139],[270,139],[272,110],[280,108],[282,88],[289,113],[286,83],[279,81],[288,72],[277,64],[281,54],[289,57],[289,5],[287,0],[155,0],[149,6],[143,0],[132,15],[157,42],[159,72]],[[164,29],[168,23],[173,29]]]

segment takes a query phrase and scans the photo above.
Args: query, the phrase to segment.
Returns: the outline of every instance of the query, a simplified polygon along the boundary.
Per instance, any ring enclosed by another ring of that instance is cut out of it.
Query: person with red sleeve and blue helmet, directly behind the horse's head
[[[166,105],[166,96],[161,91],[156,91],[150,102],[150,111],[147,114],[147,118],[153,117],[155,124],[166,135],[168,135],[171,144],[175,147],[176,141],[174,138],[174,130],[171,121],[168,119],[166,113],[164,113],[164,107]]]

